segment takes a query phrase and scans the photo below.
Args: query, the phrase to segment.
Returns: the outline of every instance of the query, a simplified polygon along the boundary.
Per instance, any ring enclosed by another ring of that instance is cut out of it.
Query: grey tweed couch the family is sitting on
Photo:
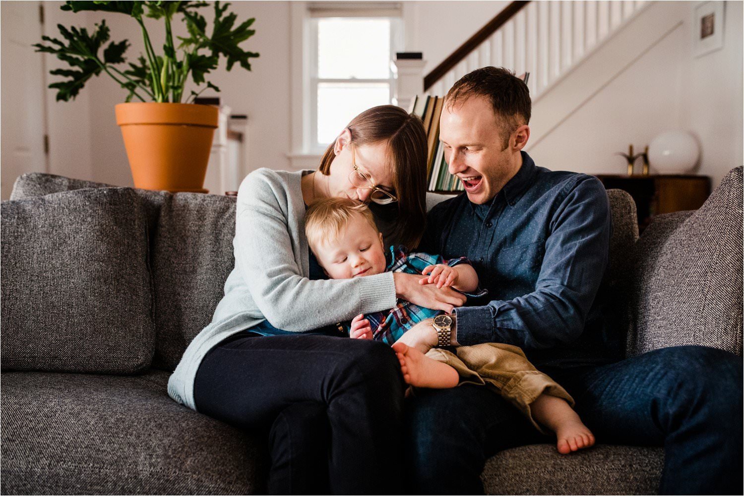
[[[697,211],[657,216],[608,192],[603,287],[629,355],[677,344],[742,353],[742,168]],[[1,207],[1,492],[254,494],[266,442],[177,405],[170,371],[233,265],[234,199],[16,181]],[[661,448],[570,456],[527,445],[488,460],[497,494],[650,494]]]

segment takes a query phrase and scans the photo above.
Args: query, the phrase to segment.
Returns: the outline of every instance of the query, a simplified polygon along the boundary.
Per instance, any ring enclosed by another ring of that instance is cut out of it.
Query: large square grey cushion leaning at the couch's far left
[[[3,370],[134,373],[155,328],[144,207],[129,188],[1,210]]]

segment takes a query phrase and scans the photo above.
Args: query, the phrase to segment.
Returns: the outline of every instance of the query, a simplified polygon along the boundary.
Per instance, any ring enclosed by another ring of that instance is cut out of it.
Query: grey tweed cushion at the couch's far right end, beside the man
[[[742,167],[693,213],[655,217],[635,246],[628,352],[742,353]]]

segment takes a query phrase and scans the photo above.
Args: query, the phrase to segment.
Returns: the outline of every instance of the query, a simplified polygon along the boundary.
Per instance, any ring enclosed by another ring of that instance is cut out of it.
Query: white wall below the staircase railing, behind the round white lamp
[[[537,164],[624,174],[626,161],[615,152],[627,152],[628,144],[641,152],[668,129],[697,136],[702,157],[695,173],[711,176],[712,187],[742,164],[742,2],[726,2],[724,47],[699,58],[693,54],[696,4],[652,4],[536,101],[527,151]],[[607,81],[606,71],[615,71]],[[585,99],[566,112],[568,95]]]

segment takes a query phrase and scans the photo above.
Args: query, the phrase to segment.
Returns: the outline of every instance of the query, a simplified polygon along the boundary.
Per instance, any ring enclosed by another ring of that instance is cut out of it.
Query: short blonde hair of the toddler
[[[313,203],[305,215],[305,236],[312,252],[315,253],[315,247],[321,242],[338,239],[354,216],[362,216],[379,232],[372,210],[362,202],[348,198],[327,198]]]

